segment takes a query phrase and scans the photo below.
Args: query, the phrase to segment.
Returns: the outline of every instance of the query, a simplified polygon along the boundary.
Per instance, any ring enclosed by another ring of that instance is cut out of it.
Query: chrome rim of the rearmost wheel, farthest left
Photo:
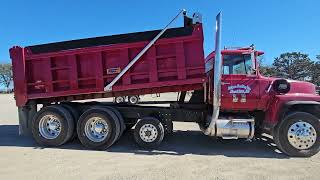
[[[45,115],[39,121],[39,132],[46,139],[55,139],[61,133],[61,122],[55,115]]]

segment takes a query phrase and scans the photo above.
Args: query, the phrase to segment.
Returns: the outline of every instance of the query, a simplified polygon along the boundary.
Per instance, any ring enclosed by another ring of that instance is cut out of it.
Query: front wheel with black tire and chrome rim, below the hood
[[[293,112],[275,127],[273,138],[285,154],[294,157],[311,157],[320,150],[319,135],[319,118],[306,112]]]

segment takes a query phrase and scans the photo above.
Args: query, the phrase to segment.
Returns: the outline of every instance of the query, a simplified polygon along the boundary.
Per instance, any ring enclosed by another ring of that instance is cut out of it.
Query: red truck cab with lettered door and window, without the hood
[[[265,106],[261,97],[269,84],[262,78],[258,71],[256,59],[263,52],[255,51],[253,47],[239,49],[225,49],[221,52],[222,75],[221,75],[221,110],[262,110]],[[213,62],[215,53],[212,52],[206,58],[206,73],[208,78],[213,78]],[[212,66],[210,66],[212,64]],[[211,82],[210,80],[208,82]],[[209,87],[212,87],[212,84]],[[211,90],[212,88],[210,88]],[[211,103],[213,93],[208,94],[207,102]]]

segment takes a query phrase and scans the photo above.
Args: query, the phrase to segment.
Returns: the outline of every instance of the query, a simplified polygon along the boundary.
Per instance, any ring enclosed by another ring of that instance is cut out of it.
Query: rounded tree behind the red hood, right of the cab
[[[294,80],[311,80],[313,62],[307,54],[288,52],[275,58],[273,66],[277,77]]]

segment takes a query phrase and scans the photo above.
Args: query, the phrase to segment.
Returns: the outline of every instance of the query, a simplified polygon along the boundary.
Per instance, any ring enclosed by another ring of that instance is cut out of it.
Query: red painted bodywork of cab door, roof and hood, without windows
[[[242,54],[250,53],[252,50],[246,48],[237,50],[223,50],[222,56],[225,54]],[[257,51],[256,54],[263,54]],[[213,83],[213,69],[209,71],[211,64],[214,64],[214,52],[211,53],[205,60],[206,71],[208,76],[207,87],[207,103],[212,104],[212,83]],[[261,110],[266,112],[265,120],[267,123],[276,124],[279,121],[279,114],[283,109],[283,105],[290,101],[317,101],[320,102],[320,96],[316,94],[315,85],[302,82],[288,80],[291,85],[291,90],[285,95],[278,95],[275,92],[267,92],[268,87],[277,78],[264,77],[259,73],[257,64],[257,72],[254,75],[222,75],[221,81],[228,84],[221,85],[221,110],[222,111],[255,111]],[[246,94],[246,102],[240,102],[240,95],[238,102],[233,102],[233,95],[229,92],[229,86],[246,85],[251,88],[251,92]]]

